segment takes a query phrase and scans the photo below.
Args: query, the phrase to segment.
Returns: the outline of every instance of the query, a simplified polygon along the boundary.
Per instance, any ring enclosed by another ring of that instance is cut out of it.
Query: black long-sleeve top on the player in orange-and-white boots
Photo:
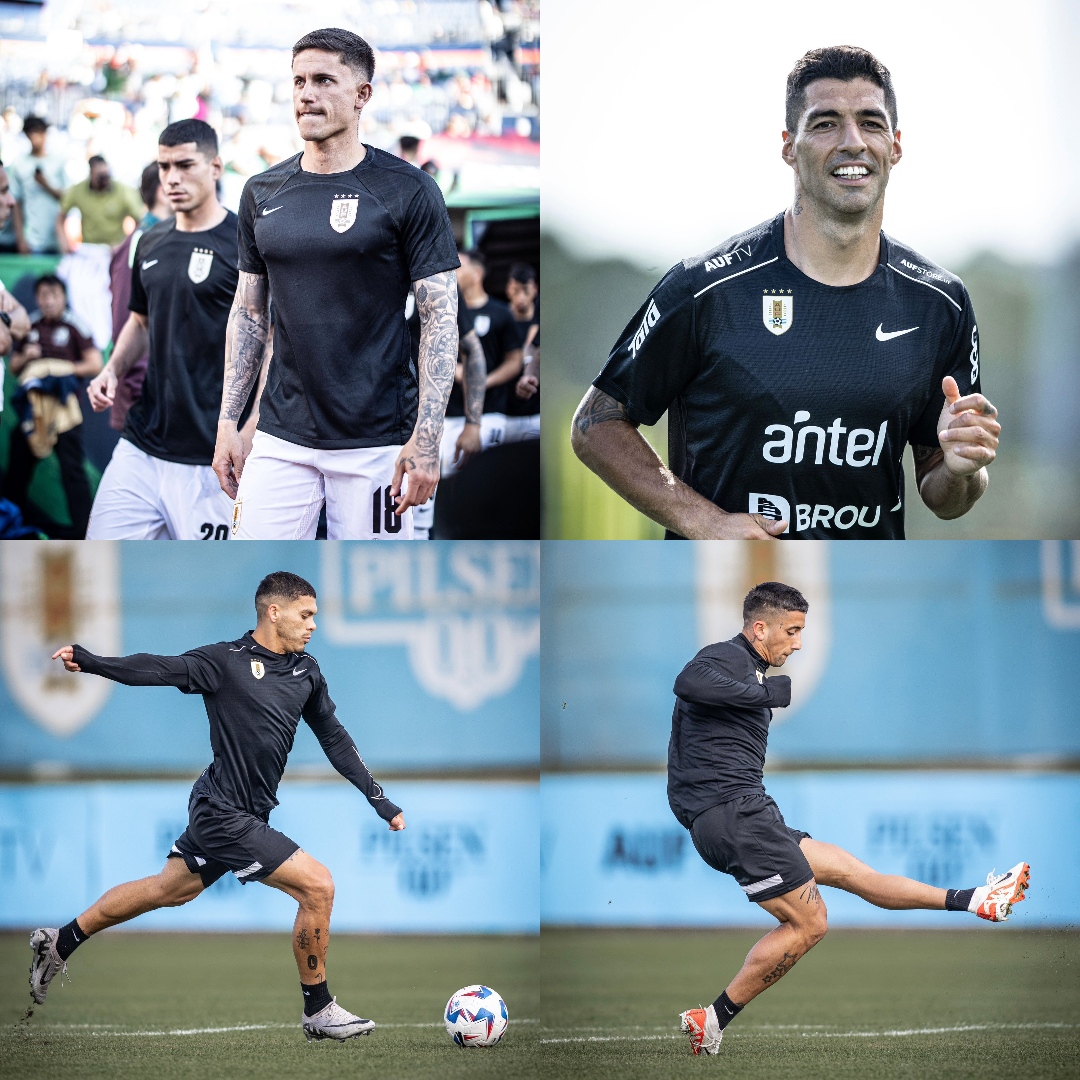
[[[792,680],[766,678],[768,667],[738,634],[706,645],[675,679],[667,805],[686,828],[710,807],[765,793],[772,710],[792,700]]]

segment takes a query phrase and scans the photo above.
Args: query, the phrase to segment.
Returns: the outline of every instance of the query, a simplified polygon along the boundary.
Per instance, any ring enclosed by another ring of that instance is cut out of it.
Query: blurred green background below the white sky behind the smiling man
[[[1080,248],[1055,266],[1018,265],[986,252],[949,267],[978,320],[983,392],[998,408],[1001,446],[986,495],[963,517],[907,504],[909,539],[1080,536]],[[608,350],[667,267],[590,259],[548,233],[544,293],[544,536],[567,540],[662,539],[663,529],[575,457],[570,419]],[[667,424],[642,433],[667,459]],[[905,454],[914,491],[912,451]]]

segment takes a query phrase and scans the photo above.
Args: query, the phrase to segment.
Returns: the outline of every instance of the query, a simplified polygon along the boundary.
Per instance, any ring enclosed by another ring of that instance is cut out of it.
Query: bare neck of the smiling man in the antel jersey
[[[865,218],[837,221],[804,199],[798,217],[791,210],[784,214],[787,258],[823,285],[858,285],[874,273],[881,257],[882,214],[878,204]]]

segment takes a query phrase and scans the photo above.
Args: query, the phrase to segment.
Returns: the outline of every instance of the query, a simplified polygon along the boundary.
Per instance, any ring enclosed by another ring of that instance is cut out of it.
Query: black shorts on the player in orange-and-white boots
[[[744,795],[698,814],[690,837],[698,854],[721,874],[730,874],[752,903],[798,889],[813,877],[799,840],[768,795]]]

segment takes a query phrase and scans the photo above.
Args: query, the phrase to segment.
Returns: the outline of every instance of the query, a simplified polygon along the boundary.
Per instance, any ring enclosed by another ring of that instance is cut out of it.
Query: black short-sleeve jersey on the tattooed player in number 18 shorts
[[[253,176],[240,269],[269,276],[276,320],[259,429],[326,450],[407,442],[419,390],[405,298],[458,265],[438,185],[391,153],[367,147],[332,174],[297,154]]]

